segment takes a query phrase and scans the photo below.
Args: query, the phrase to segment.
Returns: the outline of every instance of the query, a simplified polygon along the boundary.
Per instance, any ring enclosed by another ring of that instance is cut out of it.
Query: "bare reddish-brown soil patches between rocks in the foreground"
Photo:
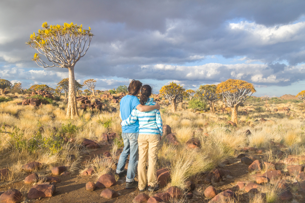
[[[102,145],[101,148],[90,151],[89,155],[84,155],[82,157],[81,163],[86,162],[88,159],[93,159],[96,155],[102,155],[104,152],[109,151],[109,145]],[[254,156],[258,155],[256,153],[246,152],[248,155]],[[261,159],[260,159],[261,161]],[[81,167],[81,165],[80,165]],[[241,203],[248,203],[249,202],[249,194],[246,193],[244,190],[239,190],[236,187],[237,181],[246,181],[246,182],[253,182],[253,179],[249,176],[248,173],[248,165],[242,164],[239,159],[231,158],[228,160],[227,165],[221,164],[218,167],[219,169],[227,169],[231,171],[231,175],[223,177],[221,182],[216,183],[212,182],[213,185],[218,192],[230,189],[235,191],[237,197],[239,198],[239,202]],[[48,175],[48,174],[47,174]],[[46,175],[46,176],[47,176]],[[51,174],[49,174],[51,175]],[[119,197],[114,199],[105,199],[100,197],[100,193],[104,189],[96,189],[95,191],[89,192],[86,191],[85,184],[88,181],[96,182],[98,179],[97,176],[81,176],[79,173],[75,173],[71,176],[58,176],[62,181],[60,183],[56,183],[56,192],[52,197],[48,198],[41,198],[41,200],[27,200],[25,198],[24,202],[41,202],[41,203],[125,203],[125,202],[132,202],[132,200],[140,194],[138,188],[135,189],[125,189],[125,178],[120,178],[117,182],[117,185],[111,187],[110,189],[115,190],[119,193]],[[199,175],[193,181],[196,182],[198,180],[203,179],[203,175]],[[24,184],[23,180],[17,183],[5,185],[0,187],[0,191],[6,191],[9,188],[16,188],[20,191],[23,191],[24,196],[29,191],[29,189],[33,185],[31,184]],[[205,198],[203,195],[203,191],[206,187],[210,185],[205,184],[196,184],[197,191],[194,191],[193,198],[190,200],[186,200],[186,202],[204,202],[207,203],[210,199]],[[201,188],[198,190],[198,188]],[[166,188],[161,188],[160,191],[164,191]],[[157,191],[157,192],[160,192]],[[146,191],[147,194],[149,192]],[[152,196],[152,194],[149,194]],[[295,202],[305,202],[305,197],[300,195],[294,195],[294,199],[297,201]],[[276,201],[276,202],[288,202],[288,201]]]

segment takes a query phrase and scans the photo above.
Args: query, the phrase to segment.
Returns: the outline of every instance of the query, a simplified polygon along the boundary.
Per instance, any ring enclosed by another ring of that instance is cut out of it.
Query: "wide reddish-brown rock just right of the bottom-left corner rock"
[[[52,197],[55,193],[55,185],[39,184],[32,187],[27,194],[28,199],[38,199],[41,197]]]

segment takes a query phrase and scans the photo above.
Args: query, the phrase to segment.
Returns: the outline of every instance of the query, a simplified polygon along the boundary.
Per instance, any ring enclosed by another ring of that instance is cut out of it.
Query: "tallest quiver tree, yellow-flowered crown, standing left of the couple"
[[[43,29],[38,33],[30,35],[30,40],[26,43],[35,48],[38,53],[34,54],[33,61],[40,67],[59,67],[69,70],[69,92],[67,116],[71,119],[78,116],[74,66],[83,57],[90,45],[93,34],[83,29],[82,25],[64,23],[64,25],[42,24]],[[48,62],[41,60],[44,55]]]

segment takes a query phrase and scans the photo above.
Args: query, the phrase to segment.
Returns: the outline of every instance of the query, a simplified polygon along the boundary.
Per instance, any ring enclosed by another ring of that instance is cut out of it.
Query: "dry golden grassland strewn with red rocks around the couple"
[[[98,99],[89,97],[91,102]],[[194,112],[185,100],[182,109],[173,113],[168,100],[154,97],[159,99],[167,129],[157,168],[169,172],[158,174],[165,184],[159,191],[145,191],[149,197],[164,193],[163,201],[168,202],[305,201],[303,104],[274,99],[265,105],[252,97],[239,107],[239,123],[233,126],[228,123],[230,109],[222,108],[222,102],[216,102],[211,113],[209,105]],[[109,112],[108,107],[119,109],[119,104],[103,100],[107,105],[101,111],[80,108],[79,118],[71,120],[66,117],[65,99],[39,107],[15,105],[25,98],[22,94],[1,98],[0,169],[5,170],[0,191],[18,189],[23,202],[132,202],[140,194],[137,188],[126,190],[125,178],[115,175],[123,143],[119,112]],[[30,162],[40,164],[25,170],[23,165]],[[56,166],[65,166],[64,173],[55,175]],[[88,169],[93,170],[91,175]],[[34,181],[25,183],[33,173]],[[109,188],[118,193],[110,200],[100,197],[105,189],[86,191],[86,183],[96,183],[106,173],[116,182]],[[44,182],[56,186],[52,197],[30,200],[29,190]],[[216,194],[220,199],[212,201]]]

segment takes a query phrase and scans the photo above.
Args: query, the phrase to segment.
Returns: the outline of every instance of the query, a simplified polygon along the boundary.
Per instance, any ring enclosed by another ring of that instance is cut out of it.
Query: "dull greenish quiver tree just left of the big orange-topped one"
[[[215,113],[214,103],[220,99],[220,95],[216,91],[216,85],[200,85],[198,89],[198,94],[201,94],[209,102],[212,113]]]

